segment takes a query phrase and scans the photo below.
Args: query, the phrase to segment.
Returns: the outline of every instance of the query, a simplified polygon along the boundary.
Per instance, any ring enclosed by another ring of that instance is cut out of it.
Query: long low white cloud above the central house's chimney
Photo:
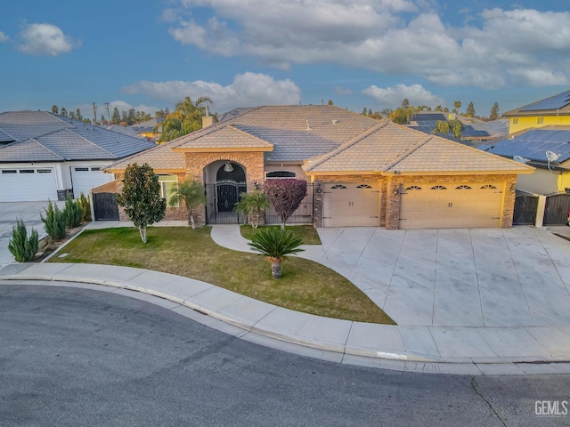
[[[173,105],[185,96],[192,100],[208,96],[218,112],[235,107],[256,107],[267,104],[292,104],[301,99],[301,91],[289,79],[275,80],[265,74],[246,72],[233,77],[232,85],[196,80],[148,82],[142,81],[123,88],[124,93],[144,93]]]

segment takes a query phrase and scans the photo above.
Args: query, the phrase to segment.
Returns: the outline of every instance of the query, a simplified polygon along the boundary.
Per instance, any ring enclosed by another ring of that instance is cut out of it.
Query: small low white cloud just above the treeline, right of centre
[[[436,107],[443,105],[444,100],[436,97],[426,90],[422,85],[395,85],[393,87],[370,86],[362,91],[365,95],[371,96],[381,107],[397,108],[404,99],[408,99],[411,105],[428,105]]]

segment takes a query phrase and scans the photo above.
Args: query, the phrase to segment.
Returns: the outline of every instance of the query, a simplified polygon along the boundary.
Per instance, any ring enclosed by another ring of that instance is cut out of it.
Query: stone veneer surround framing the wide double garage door
[[[419,175],[419,176],[389,176],[387,179],[387,208],[386,208],[386,228],[388,230],[397,230],[400,225],[400,195],[394,194],[394,189],[399,188],[400,184],[422,184],[422,183],[461,183],[461,182],[492,182],[501,184],[499,188],[503,189],[503,210],[502,223],[503,229],[509,229],[513,226],[513,214],[515,209],[515,187],[517,186],[517,175]]]

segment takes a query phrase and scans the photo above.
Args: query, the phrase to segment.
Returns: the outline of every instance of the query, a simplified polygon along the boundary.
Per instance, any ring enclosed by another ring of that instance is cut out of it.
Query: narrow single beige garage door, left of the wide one
[[[324,227],[378,227],[380,190],[372,182],[324,184]]]

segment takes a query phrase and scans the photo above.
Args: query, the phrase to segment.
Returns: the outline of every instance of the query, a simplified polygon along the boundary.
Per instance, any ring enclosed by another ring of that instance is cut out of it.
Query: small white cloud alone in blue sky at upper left
[[[27,24],[20,33],[20,39],[18,48],[28,55],[58,56],[81,45],[63,34],[61,28],[47,22]]]

